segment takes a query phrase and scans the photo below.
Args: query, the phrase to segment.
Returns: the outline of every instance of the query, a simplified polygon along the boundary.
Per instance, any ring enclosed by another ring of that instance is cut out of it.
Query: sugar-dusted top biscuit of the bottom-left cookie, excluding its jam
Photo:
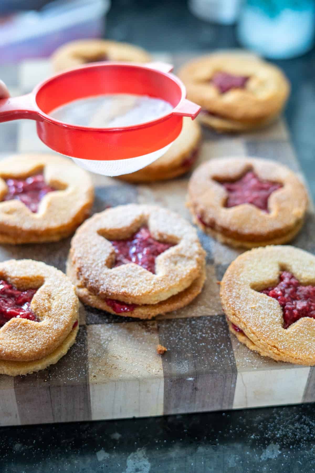
[[[39,288],[30,307],[40,320],[13,318],[0,329],[2,362],[44,358],[65,340],[77,320],[74,287],[62,272],[32,260],[0,263],[0,274],[19,289]]]

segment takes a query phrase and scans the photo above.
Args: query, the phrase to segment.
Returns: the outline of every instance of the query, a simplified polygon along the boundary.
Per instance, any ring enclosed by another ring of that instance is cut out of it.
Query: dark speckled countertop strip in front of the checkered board
[[[0,429],[1,473],[309,473],[304,406]]]

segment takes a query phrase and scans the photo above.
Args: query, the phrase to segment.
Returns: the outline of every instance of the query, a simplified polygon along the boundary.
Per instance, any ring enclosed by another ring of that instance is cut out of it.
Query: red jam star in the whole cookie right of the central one
[[[268,212],[270,195],[282,187],[282,184],[262,181],[253,171],[248,171],[238,181],[220,182],[229,193],[225,207],[249,203],[258,209]]]

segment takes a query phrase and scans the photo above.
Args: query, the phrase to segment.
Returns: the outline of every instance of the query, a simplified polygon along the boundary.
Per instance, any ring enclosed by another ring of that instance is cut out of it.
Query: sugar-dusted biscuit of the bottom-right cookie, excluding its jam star
[[[249,348],[274,359],[314,364],[315,321],[304,317],[283,328],[279,303],[258,291],[274,286],[281,270],[293,272],[301,284],[315,283],[315,257],[291,246],[267,246],[240,255],[221,282],[221,302],[236,333]],[[243,336],[243,338],[242,338]]]

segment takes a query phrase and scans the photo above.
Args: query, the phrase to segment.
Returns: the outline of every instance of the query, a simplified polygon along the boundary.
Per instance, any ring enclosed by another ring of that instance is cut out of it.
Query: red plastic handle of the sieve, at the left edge
[[[0,100],[0,122],[10,122],[20,118],[41,120],[33,94],[2,98]]]

